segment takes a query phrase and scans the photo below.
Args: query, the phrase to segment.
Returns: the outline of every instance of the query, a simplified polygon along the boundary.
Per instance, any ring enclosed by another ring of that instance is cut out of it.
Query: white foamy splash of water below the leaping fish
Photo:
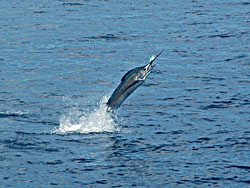
[[[93,110],[80,111],[78,107],[72,108],[68,114],[63,115],[60,119],[60,126],[55,128],[52,133],[100,133],[100,132],[117,132],[121,127],[115,122],[117,116],[107,112],[107,97],[99,102]]]

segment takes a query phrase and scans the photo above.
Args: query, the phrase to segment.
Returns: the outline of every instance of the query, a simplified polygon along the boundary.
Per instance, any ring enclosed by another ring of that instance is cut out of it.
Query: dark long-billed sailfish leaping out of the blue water
[[[121,83],[114,90],[107,102],[107,111],[118,109],[121,104],[130,96],[139,86],[141,86],[151,73],[155,65],[153,62],[161,55],[164,49],[156,56],[152,56],[147,65],[136,67],[128,71],[121,79]]]

